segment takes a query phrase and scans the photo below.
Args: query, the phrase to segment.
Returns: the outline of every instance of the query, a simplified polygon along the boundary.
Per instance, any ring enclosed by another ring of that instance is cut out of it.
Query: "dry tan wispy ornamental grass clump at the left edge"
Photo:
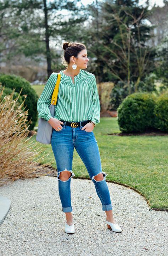
[[[33,135],[27,138],[31,120],[28,122],[28,110],[23,109],[25,99],[20,105],[17,102],[22,89],[16,99],[13,99],[14,88],[10,95],[1,100],[4,87],[1,84],[0,87],[0,186],[20,178],[46,175],[44,168],[50,164],[40,165],[37,160],[32,161],[43,152],[43,149],[40,150],[43,145],[39,147],[39,142],[30,141]],[[27,95],[23,96],[26,98]],[[38,160],[43,160],[48,155]]]

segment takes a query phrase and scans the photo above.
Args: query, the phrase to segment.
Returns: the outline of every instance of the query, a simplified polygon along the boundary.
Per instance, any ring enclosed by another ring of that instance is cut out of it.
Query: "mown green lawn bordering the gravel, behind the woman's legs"
[[[168,208],[168,136],[111,136],[120,132],[115,117],[102,117],[94,128],[99,146],[102,171],[106,181],[115,181],[136,188],[148,200],[151,208]],[[35,139],[35,135],[31,140]],[[51,144],[42,145],[45,161],[56,168]],[[76,177],[89,178],[84,163],[74,149],[73,172]],[[111,195],[112,197],[113,195]]]

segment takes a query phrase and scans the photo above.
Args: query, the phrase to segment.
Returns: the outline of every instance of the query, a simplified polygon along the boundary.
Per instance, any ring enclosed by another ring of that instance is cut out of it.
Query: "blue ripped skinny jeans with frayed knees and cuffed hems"
[[[75,176],[72,172],[74,147],[85,164],[89,176],[95,185],[97,195],[102,203],[102,210],[112,210],[113,207],[111,204],[110,193],[105,180],[107,174],[102,172],[99,147],[93,131],[87,132],[81,130],[83,127],[81,122],[80,126],[76,128],[66,125],[66,121],[64,122],[64,125],[61,124],[61,126],[63,129],[60,131],[53,129],[51,146],[57,165],[58,192],[62,204],[62,211],[65,213],[72,211],[71,178]],[[71,176],[66,181],[59,179],[60,172],[63,171],[71,172]],[[102,181],[96,181],[94,176],[100,173],[103,174],[104,178]]]

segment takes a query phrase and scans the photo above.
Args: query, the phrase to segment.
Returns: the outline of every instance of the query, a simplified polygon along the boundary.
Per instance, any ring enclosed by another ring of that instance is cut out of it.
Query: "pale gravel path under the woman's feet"
[[[134,190],[107,183],[122,233],[107,229],[93,182],[71,180],[74,234],[66,234],[57,177],[17,180],[0,187],[12,204],[0,225],[1,256],[167,255],[168,213],[150,210]]]

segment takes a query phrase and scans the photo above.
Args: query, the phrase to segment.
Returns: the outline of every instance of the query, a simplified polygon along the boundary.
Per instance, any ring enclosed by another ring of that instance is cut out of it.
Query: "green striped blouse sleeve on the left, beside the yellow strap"
[[[46,121],[49,121],[53,117],[50,113],[49,106],[51,104],[52,93],[57,81],[57,73],[52,73],[47,80],[47,83],[37,101],[37,111],[39,113],[38,118],[43,117]]]

